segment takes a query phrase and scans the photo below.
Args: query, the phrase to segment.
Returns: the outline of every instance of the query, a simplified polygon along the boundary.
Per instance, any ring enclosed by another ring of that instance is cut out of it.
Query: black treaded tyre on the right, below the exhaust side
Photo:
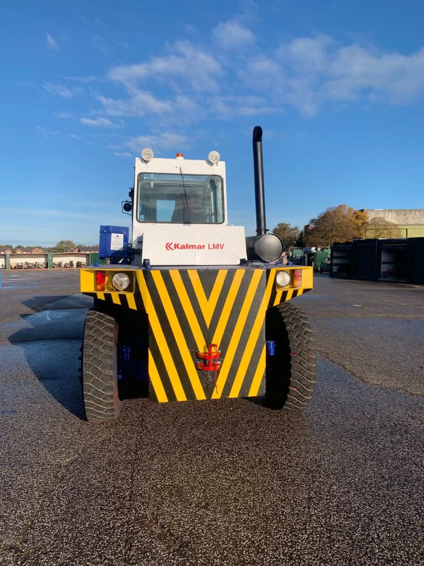
[[[274,409],[305,409],[315,387],[317,354],[308,318],[292,303],[269,308],[266,340],[274,340],[275,355],[267,355],[266,399]]]

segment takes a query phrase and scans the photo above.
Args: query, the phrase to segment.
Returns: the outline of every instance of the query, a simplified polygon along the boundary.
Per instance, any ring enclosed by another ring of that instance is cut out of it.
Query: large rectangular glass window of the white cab
[[[140,173],[137,220],[222,224],[222,177],[185,173]]]

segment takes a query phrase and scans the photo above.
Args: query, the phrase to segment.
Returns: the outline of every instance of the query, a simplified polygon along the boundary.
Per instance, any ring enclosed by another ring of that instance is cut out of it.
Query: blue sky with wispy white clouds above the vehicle
[[[227,166],[254,231],[252,128],[267,227],[329,206],[424,208],[419,2],[2,3],[0,243],[96,243],[134,158]]]

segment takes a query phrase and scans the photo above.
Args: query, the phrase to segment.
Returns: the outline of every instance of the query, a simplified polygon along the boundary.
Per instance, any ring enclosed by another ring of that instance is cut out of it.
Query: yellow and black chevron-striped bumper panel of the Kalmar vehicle
[[[265,392],[265,312],[309,291],[312,268],[81,269],[81,293],[147,314],[149,396],[159,402],[219,397],[256,397]],[[293,286],[293,270],[302,284]],[[276,273],[291,283],[278,288]],[[96,272],[106,272],[105,291],[96,291]],[[113,275],[130,277],[125,291]],[[217,344],[215,372],[197,369],[197,353]]]

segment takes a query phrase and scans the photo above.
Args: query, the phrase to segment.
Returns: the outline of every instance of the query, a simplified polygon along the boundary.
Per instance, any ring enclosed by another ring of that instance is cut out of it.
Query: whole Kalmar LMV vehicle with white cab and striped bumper
[[[129,391],[156,402],[265,396],[301,410],[315,385],[308,319],[297,303],[311,267],[279,262],[283,243],[267,233],[262,128],[253,130],[256,235],[228,224],[225,163],[136,158],[128,228],[101,226],[99,255],[81,268],[94,298],[81,345],[89,421],[118,417]],[[144,386],[143,386],[144,384]]]

